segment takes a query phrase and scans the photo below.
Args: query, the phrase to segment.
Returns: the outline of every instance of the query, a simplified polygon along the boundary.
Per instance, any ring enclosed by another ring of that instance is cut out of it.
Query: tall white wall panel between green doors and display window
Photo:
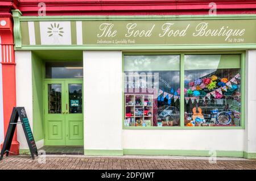
[[[122,52],[84,52],[84,148],[122,149]]]

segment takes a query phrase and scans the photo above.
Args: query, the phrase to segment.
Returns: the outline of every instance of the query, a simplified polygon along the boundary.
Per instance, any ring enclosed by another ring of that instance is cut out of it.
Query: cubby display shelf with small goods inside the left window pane
[[[151,127],[153,124],[153,120],[152,120],[153,116],[145,116],[145,114],[147,112],[151,112],[151,115],[152,115],[153,100],[154,100],[153,95],[126,94],[125,95],[125,119],[126,119],[125,127],[136,127],[136,126]],[[126,116],[126,114],[130,114],[131,116]]]

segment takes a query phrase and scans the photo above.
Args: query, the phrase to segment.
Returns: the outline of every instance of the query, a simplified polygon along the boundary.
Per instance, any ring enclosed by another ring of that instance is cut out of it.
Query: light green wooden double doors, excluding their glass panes
[[[83,133],[83,122],[84,122],[84,101],[82,101],[82,115],[80,113],[69,113],[69,94],[68,85],[69,84],[82,84],[82,100],[84,100],[84,86],[83,79],[44,79],[44,145],[65,145],[65,146],[79,146],[84,145],[84,133]],[[48,84],[61,84],[61,113],[48,113]],[[66,109],[67,104],[67,109]],[[82,116],[82,117],[81,117]],[[61,125],[61,133],[57,133],[56,139],[49,138],[49,121],[56,120],[56,123]],[[69,120],[82,119],[82,138],[73,139],[69,137],[69,125],[67,125]],[[61,120],[63,122],[61,123]],[[70,139],[69,139],[70,138]]]

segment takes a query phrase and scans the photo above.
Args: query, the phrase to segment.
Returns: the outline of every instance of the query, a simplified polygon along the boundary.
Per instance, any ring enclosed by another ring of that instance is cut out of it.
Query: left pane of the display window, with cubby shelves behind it
[[[180,56],[124,56],[124,126],[180,126]],[[162,94],[159,94],[162,92]]]

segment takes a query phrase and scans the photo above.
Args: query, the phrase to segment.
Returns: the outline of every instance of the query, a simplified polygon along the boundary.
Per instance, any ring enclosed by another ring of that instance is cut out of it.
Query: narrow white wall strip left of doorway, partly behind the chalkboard
[[[16,60],[16,105],[25,107],[28,120],[32,124],[32,60],[30,51],[15,51]],[[28,149],[22,126],[18,124],[20,149]]]

